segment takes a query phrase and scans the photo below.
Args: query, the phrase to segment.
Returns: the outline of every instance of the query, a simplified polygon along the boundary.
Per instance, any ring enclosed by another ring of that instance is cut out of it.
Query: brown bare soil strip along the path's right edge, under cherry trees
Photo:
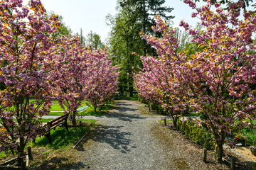
[[[203,148],[194,144],[181,131],[176,130],[171,123],[168,123],[167,126],[159,124],[153,131],[161,139],[162,145],[172,147],[172,152],[180,153],[180,157],[177,157],[176,160],[187,164],[188,169],[230,169],[230,165],[217,162],[213,150],[207,151],[207,162],[203,162]],[[225,149],[224,158],[230,161],[231,157],[235,157],[237,169],[251,169],[253,162],[247,162],[242,157],[230,152],[230,149]]]

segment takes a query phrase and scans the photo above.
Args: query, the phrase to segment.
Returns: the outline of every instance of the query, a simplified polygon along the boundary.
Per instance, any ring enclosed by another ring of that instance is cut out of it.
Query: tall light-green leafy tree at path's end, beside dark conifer
[[[123,93],[129,89],[129,94],[132,96],[133,80],[127,74],[132,74],[134,65],[138,67],[142,64],[139,57],[132,55],[135,50],[142,52],[142,46],[140,46],[142,40],[138,36],[139,23],[137,23],[137,16],[133,15],[132,6],[121,10],[122,12],[115,18],[109,18],[113,26],[110,34],[110,52],[114,54],[112,55],[113,64],[122,68],[119,76],[120,92]]]

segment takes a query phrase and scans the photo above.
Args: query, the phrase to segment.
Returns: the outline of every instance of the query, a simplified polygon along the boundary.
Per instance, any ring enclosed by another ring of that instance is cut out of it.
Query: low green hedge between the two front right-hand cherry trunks
[[[213,135],[204,130],[201,126],[191,123],[190,121],[177,121],[177,128],[183,132],[186,137],[192,140],[197,145],[201,145],[207,149],[213,148]]]

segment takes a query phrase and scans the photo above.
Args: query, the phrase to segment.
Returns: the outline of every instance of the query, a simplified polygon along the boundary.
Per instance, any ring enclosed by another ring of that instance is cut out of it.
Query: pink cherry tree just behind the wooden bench
[[[53,96],[65,113],[70,113],[71,121],[76,125],[77,110],[85,98],[82,85],[85,80],[83,72],[86,68],[87,53],[81,47],[78,36],[63,36],[61,43],[55,48],[53,62],[49,66]]]

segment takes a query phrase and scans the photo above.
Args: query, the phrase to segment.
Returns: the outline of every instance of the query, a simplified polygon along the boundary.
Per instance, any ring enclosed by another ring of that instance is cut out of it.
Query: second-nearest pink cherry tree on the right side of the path
[[[169,28],[160,16],[156,16],[156,23],[157,25],[153,27],[153,30],[155,32],[161,31],[163,33],[162,38],[144,35],[144,33],[142,33],[142,37],[156,47],[159,56],[141,57],[144,69],[134,79],[139,94],[151,103],[154,103],[152,100],[161,103],[161,107],[165,109],[167,114],[171,115],[174,126],[176,126],[178,115],[186,111],[187,105],[188,88],[186,81],[182,79],[183,72],[186,70],[182,64],[186,57],[183,57],[183,52],[178,53],[176,51],[178,48],[176,30]]]

